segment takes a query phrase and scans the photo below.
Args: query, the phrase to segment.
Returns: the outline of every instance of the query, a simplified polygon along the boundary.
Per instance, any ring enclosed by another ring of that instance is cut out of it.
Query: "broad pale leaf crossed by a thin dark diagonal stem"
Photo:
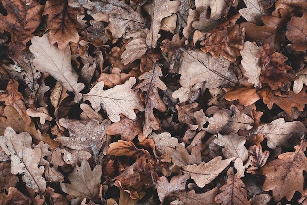
[[[195,49],[180,49],[177,55],[178,73],[181,74],[179,82],[185,88],[204,81],[205,87],[210,89],[237,83],[233,71],[229,70],[230,61],[223,57],[214,58]]]

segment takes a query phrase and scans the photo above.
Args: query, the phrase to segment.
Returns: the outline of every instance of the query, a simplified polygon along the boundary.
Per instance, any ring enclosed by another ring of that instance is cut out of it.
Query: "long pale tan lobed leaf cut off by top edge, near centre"
[[[164,17],[171,16],[179,9],[180,1],[178,0],[154,0],[152,4],[145,6],[148,14],[151,16],[151,26],[146,36],[146,44],[150,48],[157,46],[157,41],[160,38],[161,21]]]

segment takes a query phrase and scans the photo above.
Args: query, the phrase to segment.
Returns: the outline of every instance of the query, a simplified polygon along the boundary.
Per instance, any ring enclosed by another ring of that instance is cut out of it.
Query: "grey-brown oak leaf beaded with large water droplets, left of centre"
[[[95,119],[89,121],[60,119],[59,123],[69,130],[70,137],[57,137],[55,141],[71,149],[92,153],[94,161],[97,162],[99,150],[106,140],[106,129],[111,121],[105,119],[99,124]]]

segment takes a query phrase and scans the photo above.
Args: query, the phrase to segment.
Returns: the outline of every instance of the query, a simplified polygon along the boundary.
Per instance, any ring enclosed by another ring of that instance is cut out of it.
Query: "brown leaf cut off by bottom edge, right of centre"
[[[218,205],[214,201],[217,192],[217,187],[205,193],[195,193],[195,190],[192,189],[189,192],[179,192],[176,196],[184,202],[184,205]]]

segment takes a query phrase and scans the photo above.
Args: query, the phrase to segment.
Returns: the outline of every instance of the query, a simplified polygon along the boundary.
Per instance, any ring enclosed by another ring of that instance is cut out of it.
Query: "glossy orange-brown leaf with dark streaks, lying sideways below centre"
[[[111,143],[108,150],[109,155],[128,156],[134,158],[151,158],[150,153],[145,149],[138,149],[133,142],[118,140],[117,142]]]

